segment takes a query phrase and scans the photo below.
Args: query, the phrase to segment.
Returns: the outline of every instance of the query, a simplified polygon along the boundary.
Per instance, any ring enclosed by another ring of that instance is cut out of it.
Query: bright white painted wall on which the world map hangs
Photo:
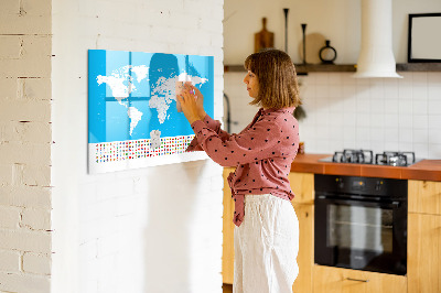
[[[87,50],[214,55],[219,118],[223,0],[61,0],[52,10],[52,291],[222,292],[222,167],[88,175]]]

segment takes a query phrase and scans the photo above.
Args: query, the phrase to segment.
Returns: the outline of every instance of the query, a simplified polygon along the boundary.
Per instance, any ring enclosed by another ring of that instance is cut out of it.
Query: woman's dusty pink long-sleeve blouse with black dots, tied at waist
[[[271,194],[288,200],[294,197],[288,181],[299,145],[293,110],[261,108],[238,134],[222,130],[220,122],[209,116],[192,123],[196,137],[187,151],[204,150],[219,165],[236,166],[228,176],[236,226],[244,220],[247,194]]]

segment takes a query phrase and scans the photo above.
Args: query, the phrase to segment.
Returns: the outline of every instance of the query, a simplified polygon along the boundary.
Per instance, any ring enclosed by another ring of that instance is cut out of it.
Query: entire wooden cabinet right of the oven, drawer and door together
[[[409,181],[408,196],[408,292],[441,292],[441,182]]]

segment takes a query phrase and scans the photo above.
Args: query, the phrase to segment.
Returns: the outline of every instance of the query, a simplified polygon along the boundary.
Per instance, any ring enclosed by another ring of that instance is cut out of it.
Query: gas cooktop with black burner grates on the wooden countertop
[[[374,152],[370,150],[349,149],[345,149],[342,152],[335,152],[334,155],[321,159],[319,161],[389,166],[409,166],[417,162],[415,152],[383,152],[377,153],[374,156]]]

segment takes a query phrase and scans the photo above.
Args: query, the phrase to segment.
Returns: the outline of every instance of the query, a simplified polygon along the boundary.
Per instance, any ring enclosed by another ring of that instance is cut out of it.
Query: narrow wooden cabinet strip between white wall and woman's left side
[[[233,167],[224,169],[224,215],[223,215],[223,247],[222,247],[222,279],[225,284],[233,284],[234,279],[234,202],[227,177]]]

